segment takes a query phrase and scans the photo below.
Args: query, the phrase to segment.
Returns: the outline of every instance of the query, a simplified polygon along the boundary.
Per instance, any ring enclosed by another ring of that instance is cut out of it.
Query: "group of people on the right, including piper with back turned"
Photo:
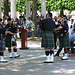
[[[45,48],[45,54],[47,60],[45,63],[53,63],[54,56],[58,56],[64,48],[64,56],[62,60],[68,59],[68,52],[74,54],[72,48],[73,42],[75,41],[75,19],[66,15],[55,16],[52,18],[52,13],[46,15],[46,19],[40,20],[38,27],[42,32],[42,47]],[[57,39],[59,41],[57,41]],[[54,55],[54,49],[57,48],[57,42],[59,43],[59,49]]]

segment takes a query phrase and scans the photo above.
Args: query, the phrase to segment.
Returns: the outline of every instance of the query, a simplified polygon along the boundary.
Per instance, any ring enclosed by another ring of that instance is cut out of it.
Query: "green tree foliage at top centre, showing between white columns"
[[[18,12],[26,12],[26,1],[27,0],[16,0],[16,11]],[[29,0],[30,1],[30,9],[32,11],[33,8],[33,0]],[[37,10],[41,11],[41,1],[37,0]]]

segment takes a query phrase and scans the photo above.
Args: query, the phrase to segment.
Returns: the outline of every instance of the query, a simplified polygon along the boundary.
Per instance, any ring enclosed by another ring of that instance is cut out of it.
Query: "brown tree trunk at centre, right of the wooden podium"
[[[34,22],[34,25],[35,25],[34,36],[37,36],[37,20],[36,20],[36,15],[37,15],[37,0],[33,0],[32,21]]]

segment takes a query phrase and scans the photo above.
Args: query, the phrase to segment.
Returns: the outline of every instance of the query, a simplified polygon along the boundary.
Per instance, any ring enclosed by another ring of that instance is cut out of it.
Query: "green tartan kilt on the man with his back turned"
[[[43,32],[42,33],[42,43],[41,47],[44,48],[54,48],[54,33],[53,32]]]

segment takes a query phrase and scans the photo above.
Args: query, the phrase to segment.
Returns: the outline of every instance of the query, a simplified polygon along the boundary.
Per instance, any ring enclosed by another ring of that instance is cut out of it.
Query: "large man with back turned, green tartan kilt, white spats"
[[[47,60],[44,63],[54,62],[54,33],[55,22],[51,19],[52,13],[48,14],[47,19],[43,19],[40,23],[40,28],[42,30],[42,45],[45,48],[45,54]]]

